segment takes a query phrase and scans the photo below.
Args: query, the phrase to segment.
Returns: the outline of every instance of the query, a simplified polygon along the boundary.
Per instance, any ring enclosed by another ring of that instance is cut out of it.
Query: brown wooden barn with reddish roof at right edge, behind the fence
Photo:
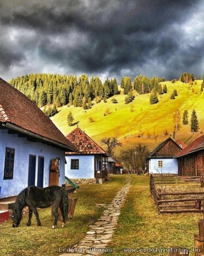
[[[200,176],[204,173],[204,135],[180,151],[175,159],[178,160],[178,175]]]

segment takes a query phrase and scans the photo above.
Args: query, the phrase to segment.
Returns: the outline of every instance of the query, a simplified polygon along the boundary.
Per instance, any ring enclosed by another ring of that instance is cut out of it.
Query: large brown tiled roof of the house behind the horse
[[[67,150],[76,151],[34,102],[0,78],[0,124],[5,122],[65,145]]]

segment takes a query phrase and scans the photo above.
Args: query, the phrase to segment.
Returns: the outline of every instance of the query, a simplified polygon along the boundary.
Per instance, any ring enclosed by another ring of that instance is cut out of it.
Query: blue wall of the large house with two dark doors
[[[15,149],[14,173],[11,180],[3,179],[6,147]],[[35,185],[37,185],[38,156],[44,157],[43,186],[49,186],[50,161],[54,157],[59,157],[61,160],[59,186],[65,183],[64,151],[50,145],[30,142],[15,134],[7,134],[7,130],[0,130],[0,186],[2,187],[0,198],[17,195],[28,186],[29,154],[36,155]]]

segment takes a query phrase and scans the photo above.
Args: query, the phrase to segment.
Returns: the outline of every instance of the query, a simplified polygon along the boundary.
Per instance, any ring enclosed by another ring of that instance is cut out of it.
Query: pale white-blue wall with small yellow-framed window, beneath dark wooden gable
[[[158,161],[163,161],[162,173],[176,173],[178,174],[178,162],[173,158],[151,158],[149,159],[149,173],[157,173],[158,169],[161,172],[161,168],[158,167]],[[155,167],[155,168],[154,168]]]

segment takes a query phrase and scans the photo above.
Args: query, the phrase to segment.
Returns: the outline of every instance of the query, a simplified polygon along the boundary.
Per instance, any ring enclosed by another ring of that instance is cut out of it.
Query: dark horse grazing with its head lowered
[[[65,226],[66,216],[68,214],[68,197],[65,188],[60,186],[49,186],[46,188],[39,188],[37,186],[31,186],[23,191],[17,196],[12,218],[12,227],[18,227],[22,218],[23,207],[29,207],[29,216],[27,226],[31,225],[32,213],[37,219],[37,225],[41,226],[39,215],[37,212],[38,208],[47,208],[50,206],[54,207],[54,223],[52,228],[57,227],[58,220],[58,207],[62,212],[62,227]]]

